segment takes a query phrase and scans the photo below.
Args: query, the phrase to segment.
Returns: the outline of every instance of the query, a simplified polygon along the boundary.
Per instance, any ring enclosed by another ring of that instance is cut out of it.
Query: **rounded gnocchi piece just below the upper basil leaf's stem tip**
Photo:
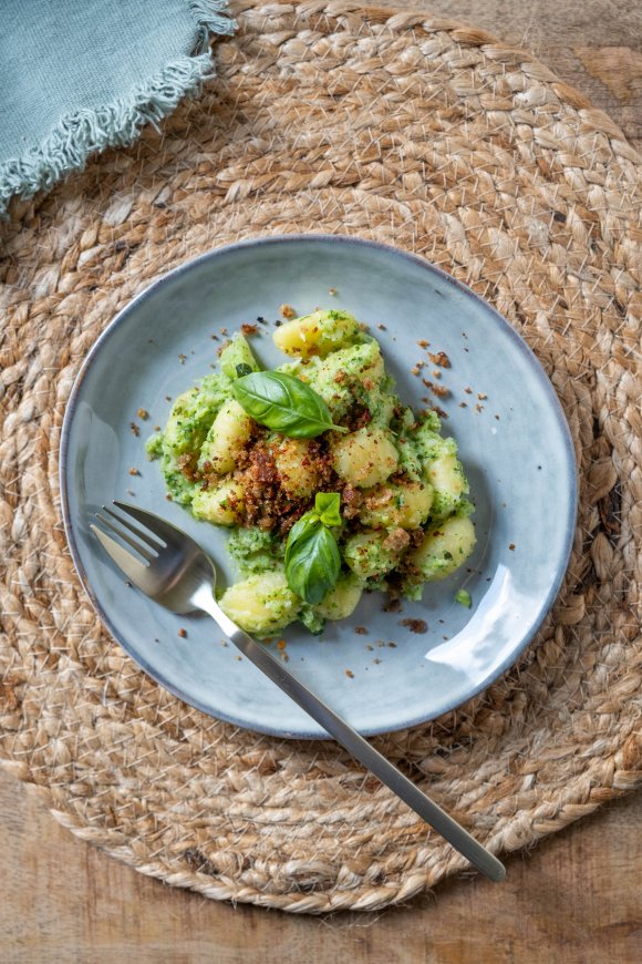
[[[396,470],[398,452],[385,429],[359,429],[333,442],[332,464],[341,479],[370,489]]]

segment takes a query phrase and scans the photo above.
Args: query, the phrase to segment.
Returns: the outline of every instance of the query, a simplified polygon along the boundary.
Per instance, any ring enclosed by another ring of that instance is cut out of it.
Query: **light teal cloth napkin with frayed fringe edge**
[[[0,214],[89,155],[130,144],[214,75],[227,0],[4,0]]]

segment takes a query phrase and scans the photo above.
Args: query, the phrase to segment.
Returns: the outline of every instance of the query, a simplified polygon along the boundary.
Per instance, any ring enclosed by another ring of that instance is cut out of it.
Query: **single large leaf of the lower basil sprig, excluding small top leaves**
[[[301,599],[317,606],[336,585],[341,556],[329,529],[319,524],[307,537],[299,539],[286,566],[288,585]]]

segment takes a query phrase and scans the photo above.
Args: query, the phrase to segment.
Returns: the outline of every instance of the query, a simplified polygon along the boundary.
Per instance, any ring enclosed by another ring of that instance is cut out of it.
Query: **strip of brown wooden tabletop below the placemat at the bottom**
[[[508,860],[508,880],[446,883],[381,914],[298,917],[141,876],[60,827],[0,771],[4,964],[630,964],[642,951],[642,797]]]

